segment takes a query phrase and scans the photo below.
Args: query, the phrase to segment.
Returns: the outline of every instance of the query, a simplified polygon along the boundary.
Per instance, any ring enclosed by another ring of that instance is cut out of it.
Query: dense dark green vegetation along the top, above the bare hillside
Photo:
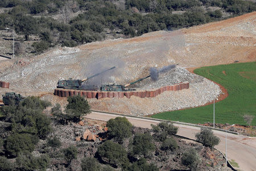
[[[254,2],[242,0],[13,0],[1,1],[0,7],[9,8],[0,14],[1,29],[14,28],[24,40],[40,37],[32,44],[36,53],[56,45],[191,27],[224,19],[223,12],[236,16],[255,11]],[[56,15],[60,17],[53,19]]]

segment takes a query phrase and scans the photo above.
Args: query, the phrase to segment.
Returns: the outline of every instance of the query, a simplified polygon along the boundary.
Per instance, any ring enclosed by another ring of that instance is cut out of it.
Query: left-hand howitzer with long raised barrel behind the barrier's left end
[[[98,75],[100,75],[100,74],[102,74],[106,71],[113,70],[114,68],[115,68],[115,66],[108,69],[108,70],[105,70],[105,71],[102,71],[100,73],[94,74],[93,76],[89,76],[88,78],[85,78],[85,79],[82,79],[82,80],[73,80],[72,78],[68,79],[68,80],[59,80],[58,83],[57,83],[57,88],[85,89],[84,87],[82,87],[82,82],[85,82],[86,80],[91,79],[95,76],[98,76]]]

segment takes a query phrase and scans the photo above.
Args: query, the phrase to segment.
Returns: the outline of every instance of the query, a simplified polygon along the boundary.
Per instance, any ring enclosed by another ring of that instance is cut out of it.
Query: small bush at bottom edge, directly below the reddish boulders
[[[82,171],[98,171],[101,169],[101,165],[92,157],[82,159],[81,167]]]

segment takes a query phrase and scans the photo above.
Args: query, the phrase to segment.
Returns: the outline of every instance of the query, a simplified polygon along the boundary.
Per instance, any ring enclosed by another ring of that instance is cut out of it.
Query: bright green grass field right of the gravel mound
[[[228,90],[229,96],[215,104],[215,123],[247,125],[243,115],[249,114],[254,116],[251,125],[256,126],[256,62],[201,67],[194,72]],[[213,104],[152,117],[188,123],[213,122]]]

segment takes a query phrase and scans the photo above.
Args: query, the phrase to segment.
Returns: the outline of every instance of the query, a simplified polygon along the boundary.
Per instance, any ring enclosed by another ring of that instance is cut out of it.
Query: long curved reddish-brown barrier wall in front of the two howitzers
[[[97,99],[102,99],[102,98],[113,98],[113,97],[118,97],[122,98],[126,96],[128,99],[130,99],[131,96],[138,96],[141,98],[144,97],[155,97],[157,95],[160,95],[164,91],[179,91],[181,89],[188,89],[189,88],[189,83],[184,82],[184,83],[179,83],[175,84],[172,86],[165,86],[161,87],[159,89],[154,89],[151,91],[123,91],[123,92],[117,92],[117,91],[84,91],[84,90],[76,90],[76,89],[60,89],[56,88],[54,90],[54,95],[60,96],[60,97],[69,97],[73,95],[80,95],[80,96],[85,96],[87,99],[91,98],[97,98]]]

